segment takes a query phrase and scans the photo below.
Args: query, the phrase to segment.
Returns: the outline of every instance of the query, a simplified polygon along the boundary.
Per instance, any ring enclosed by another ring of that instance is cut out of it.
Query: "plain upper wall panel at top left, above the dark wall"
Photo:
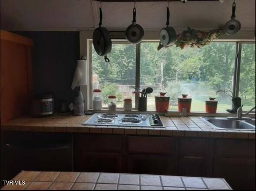
[[[77,27],[94,27],[90,0],[1,0],[1,28]]]

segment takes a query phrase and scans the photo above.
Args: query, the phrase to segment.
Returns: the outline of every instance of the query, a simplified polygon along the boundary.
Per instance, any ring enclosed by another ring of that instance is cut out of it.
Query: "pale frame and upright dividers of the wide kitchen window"
[[[112,43],[115,44],[129,44],[129,42],[126,41],[126,39],[112,39]],[[160,42],[159,40],[143,40],[141,43],[147,43],[147,42]],[[239,96],[239,80],[240,80],[240,69],[241,69],[241,52],[242,52],[242,45],[243,44],[255,44],[255,40],[251,41],[236,41],[236,40],[213,40],[214,42],[236,42],[236,53],[235,53],[235,63],[234,63],[234,71],[233,71],[233,97]],[[140,88],[140,51],[141,51],[141,43],[136,45],[136,79],[135,79],[135,88]],[[92,90],[92,48],[93,48],[93,40],[88,39],[87,40],[87,48],[89,48],[89,86],[87,87],[87,91],[89,92],[87,97],[87,103],[88,103],[88,109],[93,110],[93,90]],[[88,47],[89,46],[89,47]],[[138,109],[138,98],[139,96],[135,95],[135,108],[133,110]],[[103,107],[103,109],[107,109],[107,107]],[[123,110],[123,108],[117,108],[117,110]],[[246,111],[244,111],[246,112]],[[198,113],[198,111],[192,111],[191,113]],[[205,113],[205,112],[200,112]],[[252,112],[252,113],[255,113]]]

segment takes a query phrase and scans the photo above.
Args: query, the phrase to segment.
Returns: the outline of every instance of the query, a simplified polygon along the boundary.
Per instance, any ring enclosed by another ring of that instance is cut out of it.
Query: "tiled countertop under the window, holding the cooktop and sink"
[[[58,114],[45,118],[20,117],[1,125],[1,130],[255,139],[255,131],[214,129],[195,116],[161,116],[164,128],[82,125],[90,117]]]

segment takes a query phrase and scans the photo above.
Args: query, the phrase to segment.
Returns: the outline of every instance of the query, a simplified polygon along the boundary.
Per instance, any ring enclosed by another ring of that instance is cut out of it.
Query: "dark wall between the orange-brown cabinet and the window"
[[[79,59],[79,32],[15,32],[33,39],[34,93],[51,93],[59,101],[73,101],[71,83]],[[79,87],[76,87],[79,88]]]

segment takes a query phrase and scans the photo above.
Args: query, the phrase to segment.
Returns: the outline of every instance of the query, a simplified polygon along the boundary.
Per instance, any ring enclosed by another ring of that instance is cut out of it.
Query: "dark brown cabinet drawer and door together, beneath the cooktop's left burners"
[[[122,136],[74,134],[74,170],[122,172]]]

